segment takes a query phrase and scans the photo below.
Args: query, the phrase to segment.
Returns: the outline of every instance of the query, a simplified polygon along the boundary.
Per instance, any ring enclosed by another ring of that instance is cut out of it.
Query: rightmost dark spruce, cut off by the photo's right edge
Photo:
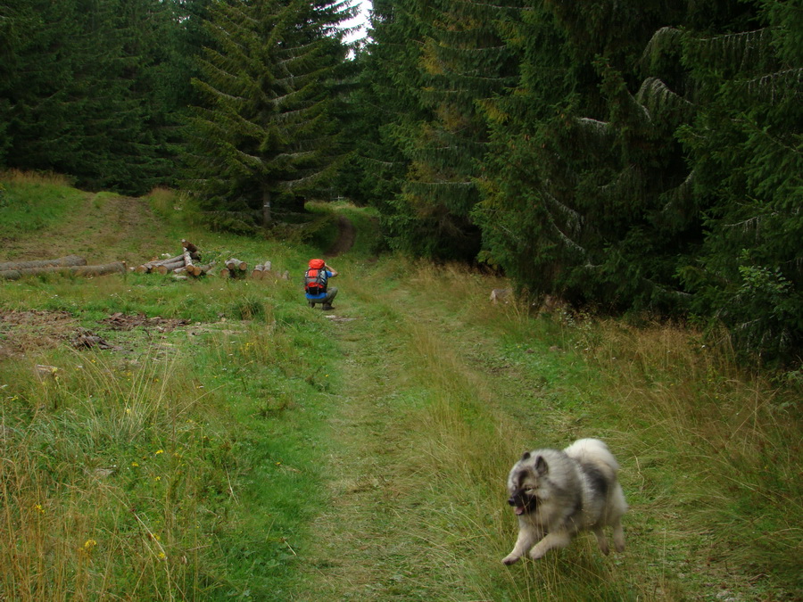
[[[708,202],[705,243],[681,274],[693,308],[739,349],[790,364],[803,352],[800,17],[785,3],[752,7],[753,20],[718,35],[662,32],[693,83],[698,110],[680,136],[693,194]]]

